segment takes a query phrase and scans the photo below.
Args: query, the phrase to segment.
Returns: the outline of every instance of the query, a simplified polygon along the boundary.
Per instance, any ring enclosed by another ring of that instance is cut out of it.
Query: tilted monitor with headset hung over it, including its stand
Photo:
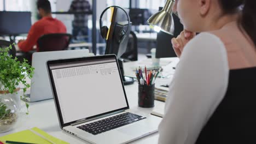
[[[125,11],[126,13],[129,13],[129,11],[127,10]],[[125,33],[121,33],[121,31],[125,31]],[[107,44],[106,44],[105,55],[107,54],[117,55],[119,68],[121,71],[121,75],[123,77],[124,85],[130,85],[134,82],[132,77],[124,76],[123,61],[120,58],[127,49],[130,31],[131,31],[131,23],[129,23],[129,21],[127,20],[126,14],[122,9],[118,7],[114,7],[111,24],[108,29],[108,35],[106,39]],[[121,35],[123,35],[123,38],[121,37]]]

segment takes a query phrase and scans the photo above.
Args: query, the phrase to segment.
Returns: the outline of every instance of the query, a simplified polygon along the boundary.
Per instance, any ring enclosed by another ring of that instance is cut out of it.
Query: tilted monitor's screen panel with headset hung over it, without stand
[[[105,55],[107,54],[115,54],[118,58],[120,58],[126,51],[129,34],[130,34],[130,27],[128,27],[127,16],[125,15],[124,11],[120,8],[114,8],[111,25],[108,32],[107,37],[107,46]],[[125,35],[123,36],[123,40],[119,43],[120,40],[120,32],[124,30],[126,31]]]

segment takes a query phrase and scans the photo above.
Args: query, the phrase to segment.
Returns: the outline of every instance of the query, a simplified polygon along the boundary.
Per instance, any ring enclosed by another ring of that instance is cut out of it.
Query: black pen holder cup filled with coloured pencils
[[[138,85],[138,106],[154,107],[155,100],[155,84],[154,85]]]

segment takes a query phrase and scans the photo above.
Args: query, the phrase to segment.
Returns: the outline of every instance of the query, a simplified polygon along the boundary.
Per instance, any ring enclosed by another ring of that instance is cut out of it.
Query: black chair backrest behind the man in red
[[[39,51],[61,51],[66,50],[72,38],[68,33],[44,34],[38,40]]]

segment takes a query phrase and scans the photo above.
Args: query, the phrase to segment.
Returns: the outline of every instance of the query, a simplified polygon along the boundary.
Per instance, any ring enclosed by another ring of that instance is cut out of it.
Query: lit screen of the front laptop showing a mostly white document
[[[113,56],[54,63],[48,67],[63,124],[128,106]]]

